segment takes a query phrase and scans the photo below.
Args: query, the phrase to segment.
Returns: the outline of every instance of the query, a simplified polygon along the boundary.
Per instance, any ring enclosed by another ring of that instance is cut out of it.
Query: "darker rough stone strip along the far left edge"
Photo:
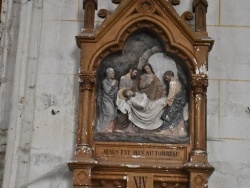
[[[2,0],[0,23],[0,186],[3,180],[7,132],[10,124],[13,79],[18,39],[20,2]]]

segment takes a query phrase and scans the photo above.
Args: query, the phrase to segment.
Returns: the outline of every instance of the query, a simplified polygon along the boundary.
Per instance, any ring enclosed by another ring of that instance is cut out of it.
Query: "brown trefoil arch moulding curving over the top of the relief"
[[[126,26],[118,33],[115,37],[114,41],[111,41],[104,46],[101,46],[97,51],[93,58],[90,60],[88,70],[96,71],[100,62],[111,53],[122,51],[124,44],[128,37],[137,30],[147,29],[159,36],[159,39],[164,43],[166,53],[176,54],[181,57],[186,65],[189,67],[190,74],[194,74],[197,69],[197,61],[196,57],[185,47],[181,46],[181,44],[177,44],[174,42],[173,37],[171,36],[168,28],[163,28],[163,26],[159,26],[158,22],[155,20],[147,20],[141,19],[140,17],[136,20],[133,20],[126,24]]]

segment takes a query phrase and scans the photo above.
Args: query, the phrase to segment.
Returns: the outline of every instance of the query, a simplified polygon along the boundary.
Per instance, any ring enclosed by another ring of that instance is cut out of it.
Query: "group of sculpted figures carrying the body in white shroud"
[[[114,69],[107,68],[97,104],[97,131],[186,135],[186,92],[172,71],[166,71],[163,79],[167,91],[149,63],[141,72],[131,67],[120,82],[115,79]]]

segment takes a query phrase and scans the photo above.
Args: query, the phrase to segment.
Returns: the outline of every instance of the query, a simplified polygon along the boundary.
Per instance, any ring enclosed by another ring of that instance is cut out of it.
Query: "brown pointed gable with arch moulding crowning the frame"
[[[121,50],[128,36],[143,28],[159,36],[166,46],[165,51],[185,59],[193,71],[198,66],[194,47],[210,48],[213,44],[213,40],[207,35],[196,34],[191,30],[185,19],[176,12],[171,1],[123,0],[113,13],[102,9],[99,15],[104,18],[99,28],[92,33],[82,32],[76,37],[79,47],[82,47],[83,42],[85,44],[98,42],[98,47],[93,46],[95,49],[93,53],[100,56],[90,60],[89,68],[98,67],[100,63],[98,59]]]

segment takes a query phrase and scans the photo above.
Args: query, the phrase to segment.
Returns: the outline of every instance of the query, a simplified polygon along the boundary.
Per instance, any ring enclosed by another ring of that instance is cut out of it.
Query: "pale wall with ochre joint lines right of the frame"
[[[250,20],[247,0],[209,1],[208,151],[213,188],[250,186]]]

